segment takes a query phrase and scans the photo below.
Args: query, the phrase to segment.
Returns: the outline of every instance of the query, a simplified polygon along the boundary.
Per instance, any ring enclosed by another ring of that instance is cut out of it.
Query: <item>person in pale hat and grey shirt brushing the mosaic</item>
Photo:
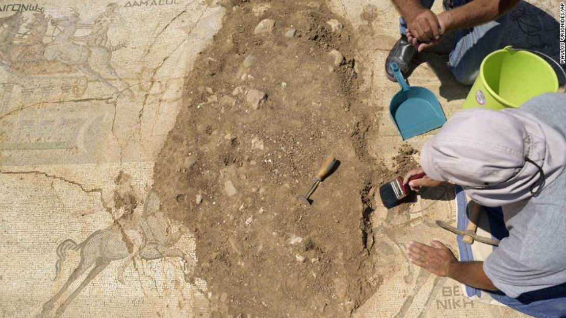
[[[426,173],[411,188],[460,185],[471,200],[501,206],[509,236],[483,262],[457,261],[436,240],[410,242],[410,261],[529,315],[566,317],[566,95],[459,111],[426,142],[421,166],[405,176]]]

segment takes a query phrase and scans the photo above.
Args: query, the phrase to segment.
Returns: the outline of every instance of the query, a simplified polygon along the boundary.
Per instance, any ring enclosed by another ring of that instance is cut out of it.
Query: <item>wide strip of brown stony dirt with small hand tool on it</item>
[[[318,5],[226,1],[155,164],[153,189],[195,236],[194,277],[207,282],[215,317],[350,316],[383,280],[372,199],[413,162],[391,170],[368,155],[379,125],[360,102],[353,29]],[[263,19],[273,31],[254,35]],[[344,28],[333,32],[331,19]],[[267,99],[250,100],[252,89]],[[328,155],[340,167],[306,206],[296,196]]]

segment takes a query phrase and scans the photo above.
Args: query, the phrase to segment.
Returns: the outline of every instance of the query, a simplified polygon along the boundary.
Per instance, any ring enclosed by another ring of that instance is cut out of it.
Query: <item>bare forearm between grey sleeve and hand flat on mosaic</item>
[[[485,290],[497,290],[483,271],[483,262],[453,262],[448,266],[448,277],[462,284]]]

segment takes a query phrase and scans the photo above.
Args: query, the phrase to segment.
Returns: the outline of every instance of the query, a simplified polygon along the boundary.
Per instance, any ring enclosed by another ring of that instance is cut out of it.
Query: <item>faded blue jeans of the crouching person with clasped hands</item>
[[[434,0],[420,0],[421,5],[430,9]],[[454,6],[461,6],[471,0],[452,0]],[[456,40],[448,58],[448,67],[458,82],[473,84],[478,77],[483,58],[499,48],[503,30],[507,25],[508,14],[501,18],[468,29],[457,29]],[[401,35],[405,35],[407,23],[399,18]]]

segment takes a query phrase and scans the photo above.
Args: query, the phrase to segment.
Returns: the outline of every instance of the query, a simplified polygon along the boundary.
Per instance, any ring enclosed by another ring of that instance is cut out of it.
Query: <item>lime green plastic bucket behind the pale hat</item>
[[[462,108],[519,107],[531,97],[556,92],[556,73],[550,64],[531,52],[541,54],[558,65],[552,58],[537,51],[529,52],[506,46],[491,52],[483,59],[478,78],[475,79]],[[558,66],[564,72],[562,67]]]

